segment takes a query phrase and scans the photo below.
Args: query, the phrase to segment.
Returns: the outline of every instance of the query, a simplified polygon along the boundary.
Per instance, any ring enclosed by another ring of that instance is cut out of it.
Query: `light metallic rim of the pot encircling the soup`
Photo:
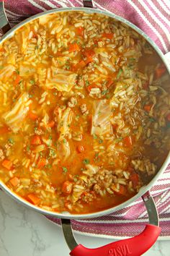
[[[154,43],[153,40],[151,40],[151,38],[149,38],[148,35],[146,35],[146,33],[143,33],[143,31],[140,30],[140,28],[136,27],[135,25],[133,25],[133,23],[129,22],[128,20],[125,20],[124,18],[119,17],[116,14],[113,14],[112,12],[109,12],[109,11],[105,12],[105,11],[98,10],[98,9],[90,9],[90,8],[85,8],[85,7],[70,7],[70,8],[67,7],[67,8],[51,9],[51,10],[48,10],[46,12],[41,12],[39,14],[35,14],[32,17],[29,17],[26,20],[20,22],[18,25],[15,25],[14,27],[12,27],[11,30],[9,30],[5,35],[3,35],[1,37],[0,44],[3,43],[4,40],[6,40],[7,38],[12,37],[14,35],[15,31],[17,29],[19,29],[19,27],[22,27],[22,25],[25,25],[25,24],[29,23],[32,20],[36,20],[37,18],[48,15],[48,14],[54,14],[54,13],[57,13],[57,12],[71,12],[71,11],[73,11],[73,12],[82,11],[82,12],[89,12],[89,13],[104,14],[107,17],[112,17],[113,19],[118,20],[118,21],[124,23],[125,25],[128,25],[128,27],[132,27],[133,30],[135,30],[138,34],[142,35],[143,38],[145,38],[148,41],[148,43],[151,44],[151,46],[154,48],[154,50],[156,51],[158,56],[161,57],[162,61],[166,65],[166,68],[168,69],[169,74],[170,74],[170,67],[168,67],[168,65],[166,64],[164,54],[161,52],[161,50],[158,48],[158,46],[156,46],[156,43]],[[137,200],[139,197],[143,196],[149,189],[151,189],[151,187],[156,182],[158,177],[164,172],[166,167],[169,165],[169,159],[170,159],[170,152],[167,155],[166,160],[164,161],[160,170],[153,177],[153,179],[151,179],[151,182],[149,182],[147,185],[144,185],[143,187],[141,187],[138,194],[131,197],[129,200],[127,200],[125,202],[122,202],[120,205],[116,205],[116,206],[114,206],[112,208],[109,208],[107,210],[100,210],[100,211],[95,212],[95,213],[71,214],[71,213],[67,213],[67,212],[63,212],[63,213],[50,212],[49,210],[44,210],[44,209],[39,208],[35,205],[32,205],[27,200],[24,200],[22,197],[15,194],[14,192],[12,192],[11,189],[6,187],[6,185],[3,182],[1,182],[1,180],[0,180],[0,187],[8,195],[13,197],[14,200],[17,200],[17,202],[19,202],[20,204],[26,206],[27,208],[33,209],[33,210],[37,211],[38,213],[42,213],[43,215],[46,215],[46,216],[51,216],[53,218],[70,218],[70,219],[95,218],[95,217],[107,215],[107,214],[112,213],[116,210],[120,210],[121,208],[124,208],[124,207],[130,205],[132,202]]]

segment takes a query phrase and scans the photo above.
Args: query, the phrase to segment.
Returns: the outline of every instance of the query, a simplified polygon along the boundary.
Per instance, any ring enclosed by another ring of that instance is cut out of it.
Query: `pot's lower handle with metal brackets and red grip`
[[[71,256],[115,256],[115,255],[130,255],[140,256],[143,255],[151,246],[156,242],[161,232],[161,228],[158,227],[158,213],[156,205],[149,192],[143,195],[143,201],[148,211],[149,224],[138,236],[134,236],[130,239],[123,239],[117,242],[104,245],[96,249],[89,249],[83,245],[76,244],[76,240],[73,237],[71,230],[71,223],[69,220],[62,219],[63,234],[65,236],[68,247],[70,247]],[[76,246],[76,247],[75,247]],[[75,247],[75,248],[74,248]],[[74,249],[73,249],[74,248]]]

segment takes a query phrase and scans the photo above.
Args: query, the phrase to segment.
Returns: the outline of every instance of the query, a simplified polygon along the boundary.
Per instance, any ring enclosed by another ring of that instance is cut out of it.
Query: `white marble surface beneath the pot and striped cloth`
[[[99,247],[111,239],[76,234],[77,242]],[[68,256],[61,228],[0,192],[0,256]],[[146,256],[169,256],[170,241],[159,241]]]

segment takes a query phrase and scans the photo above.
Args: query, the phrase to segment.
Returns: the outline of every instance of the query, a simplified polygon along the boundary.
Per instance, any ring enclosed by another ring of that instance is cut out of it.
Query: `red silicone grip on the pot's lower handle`
[[[138,236],[113,242],[96,249],[88,249],[79,244],[74,248],[71,256],[140,256],[143,255],[155,242],[161,228],[151,224]]]

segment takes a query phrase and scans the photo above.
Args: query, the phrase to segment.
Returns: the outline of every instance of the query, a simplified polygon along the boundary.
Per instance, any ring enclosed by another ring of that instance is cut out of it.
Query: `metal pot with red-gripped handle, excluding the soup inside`
[[[6,18],[6,14],[4,12],[4,2],[0,2],[0,27],[3,31],[4,36],[1,38],[0,43],[2,43],[6,38],[10,38],[15,30],[17,30],[22,25],[27,24],[28,22],[37,19],[38,17],[42,17],[46,14],[53,14],[57,12],[69,12],[69,11],[81,11],[81,12],[90,12],[90,13],[99,13],[104,14],[108,17],[112,17],[115,20],[119,20],[120,22],[128,25],[129,27],[132,27],[133,30],[135,30],[137,33],[143,36],[148,43],[151,44],[151,46],[155,49],[157,54],[161,57],[162,61],[164,61],[164,64],[166,65],[166,68],[169,70],[168,64],[166,63],[165,56],[162,54],[161,50],[156,46],[155,43],[146,35],[143,33],[142,30],[140,30],[138,27],[133,25],[128,20],[125,20],[122,17],[118,17],[115,14],[111,14],[108,12],[103,12],[97,9],[92,9],[93,5],[91,0],[84,0],[84,7],[73,7],[73,8],[61,8],[61,9],[52,9],[47,12],[42,12],[40,14],[36,14],[32,17],[29,17],[27,20],[24,20],[23,22],[19,23],[19,25],[16,25],[12,29],[10,28],[9,22]],[[46,216],[53,216],[55,218],[61,218],[61,223],[63,227],[63,233],[66,239],[66,242],[68,244],[68,247],[71,249],[70,255],[72,256],[94,256],[94,255],[109,255],[109,256],[115,256],[115,255],[131,255],[131,256],[139,256],[142,255],[144,252],[146,252],[155,242],[158,238],[158,235],[161,232],[161,228],[158,227],[158,213],[156,210],[156,205],[154,204],[153,198],[151,197],[151,194],[149,192],[149,189],[153,186],[153,184],[156,182],[159,176],[163,173],[163,171],[166,169],[166,167],[169,164],[170,160],[170,153],[166,157],[166,161],[164,161],[164,164],[161,166],[160,170],[157,172],[157,174],[153,177],[151,182],[149,182],[147,185],[141,187],[140,191],[137,195],[133,196],[129,200],[122,202],[120,205],[117,205],[113,208],[109,208],[107,210],[102,210],[98,213],[89,213],[89,214],[82,214],[82,215],[75,215],[70,213],[54,213],[50,212],[48,210],[43,210],[41,208],[38,208],[35,205],[30,204],[30,202],[27,202],[23,198],[17,196],[14,194],[8,187],[6,187],[5,184],[3,184],[0,181],[0,187],[4,190],[8,195],[10,195],[14,200],[17,200],[17,202],[21,203],[22,205],[32,208],[32,210],[35,210],[39,213],[42,213]],[[104,247],[100,247],[97,249],[87,249],[83,247],[81,244],[77,244],[76,240],[74,239],[73,232],[71,229],[71,219],[81,219],[81,218],[94,218],[99,216],[104,216],[106,214],[112,213],[115,210],[119,210],[120,208],[124,208],[125,206],[129,205],[131,202],[137,200],[139,197],[143,198],[143,202],[146,205],[146,209],[148,211],[148,219],[149,224],[146,225],[145,229],[141,234],[138,236],[135,236],[130,239],[124,239],[122,241],[113,242],[111,244],[107,244]]]

